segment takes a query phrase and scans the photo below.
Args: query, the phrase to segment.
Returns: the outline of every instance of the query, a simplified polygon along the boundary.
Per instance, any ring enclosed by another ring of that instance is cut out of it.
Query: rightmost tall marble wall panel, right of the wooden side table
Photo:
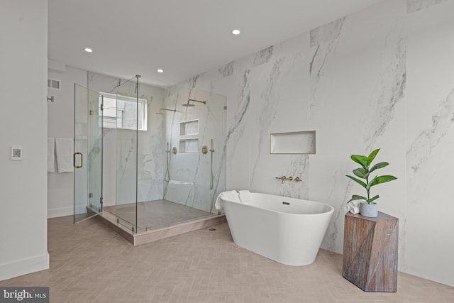
[[[448,8],[454,11],[440,7]],[[448,285],[454,285],[453,37],[451,23],[407,38],[405,270]]]

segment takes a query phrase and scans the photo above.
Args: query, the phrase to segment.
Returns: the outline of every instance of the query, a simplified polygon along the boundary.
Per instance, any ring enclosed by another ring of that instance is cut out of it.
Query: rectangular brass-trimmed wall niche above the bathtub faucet
[[[315,154],[315,150],[315,131],[270,134],[271,154]]]

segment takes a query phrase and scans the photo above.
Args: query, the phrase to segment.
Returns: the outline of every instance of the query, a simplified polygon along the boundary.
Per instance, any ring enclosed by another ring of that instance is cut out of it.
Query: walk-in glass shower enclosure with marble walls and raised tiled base
[[[226,189],[226,97],[179,85],[153,87],[140,77],[98,89],[99,100],[109,92],[116,106],[97,118],[98,126],[111,126],[101,127],[97,217],[134,245],[225,221],[214,202]],[[128,128],[118,127],[121,119]],[[216,151],[209,161],[201,146],[211,140]],[[93,156],[89,151],[84,157]]]

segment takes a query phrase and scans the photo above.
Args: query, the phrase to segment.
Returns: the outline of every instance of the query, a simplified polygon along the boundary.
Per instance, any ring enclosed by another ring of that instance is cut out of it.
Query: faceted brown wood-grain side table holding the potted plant
[[[399,219],[345,214],[342,276],[365,292],[397,292]]]

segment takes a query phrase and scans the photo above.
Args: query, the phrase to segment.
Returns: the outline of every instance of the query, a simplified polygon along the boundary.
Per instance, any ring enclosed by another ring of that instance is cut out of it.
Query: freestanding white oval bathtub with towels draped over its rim
[[[222,201],[236,245],[286,265],[314,262],[334,208],[309,200],[251,193],[251,201]]]

